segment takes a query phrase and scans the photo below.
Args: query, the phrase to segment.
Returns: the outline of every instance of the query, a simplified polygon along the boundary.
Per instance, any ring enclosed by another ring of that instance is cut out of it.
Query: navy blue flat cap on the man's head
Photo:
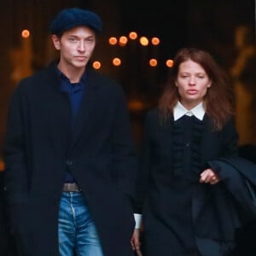
[[[95,13],[79,8],[63,9],[49,26],[49,32],[61,36],[76,26],[89,26],[95,32],[102,31],[102,20]]]

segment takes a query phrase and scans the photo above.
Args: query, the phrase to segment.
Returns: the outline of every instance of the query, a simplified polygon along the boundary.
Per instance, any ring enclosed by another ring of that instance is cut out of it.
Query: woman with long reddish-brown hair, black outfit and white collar
[[[229,79],[212,56],[180,49],[159,106],[145,121],[139,178],[145,256],[218,256],[233,247],[236,202],[209,164],[237,156],[233,113]]]

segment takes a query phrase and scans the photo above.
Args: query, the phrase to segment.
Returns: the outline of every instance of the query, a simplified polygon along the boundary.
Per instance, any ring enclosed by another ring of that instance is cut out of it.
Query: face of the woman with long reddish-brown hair
[[[175,84],[180,102],[185,108],[191,109],[203,102],[212,81],[201,65],[188,60],[180,64]]]

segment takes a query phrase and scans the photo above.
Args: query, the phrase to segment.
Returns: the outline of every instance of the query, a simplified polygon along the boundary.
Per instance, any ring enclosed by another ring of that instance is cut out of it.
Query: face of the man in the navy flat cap
[[[60,50],[59,65],[64,68],[84,68],[96,45],[96,33],[87,26],[67,30],[58,38],[52,35],[55,49]]]

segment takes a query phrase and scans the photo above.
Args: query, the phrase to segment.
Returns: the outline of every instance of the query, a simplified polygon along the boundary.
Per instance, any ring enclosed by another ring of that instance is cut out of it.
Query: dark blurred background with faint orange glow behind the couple
[[[57,12],[70,7],[91,9],[102,17],[104,31],[98,38],[92,61],[100,61],[99,72],[117,79],[123,86],[138,149],[143,136],[144,113],[157,104],[172,69],[166,66],[166,61],[172,60],[177,49],[195,46],[210,51],[233,79],[241,154],[255,160],[254,0],[9,0],[0,5],[0,160],[10,96],[20,79],[55,58],[49,23]],[[21,36],[25,29],[30,32],[28,38]],[[108,43],[109,38],[128,37],[130,32],[137,32],[138,38],[128,39],[123,46]],[[139,38],[143,36],[148,38],[148,46],[139,44]],[[150,44],[154,37],[160,39],[157,46]],[[113,66],[113,57],[121,59],[120,66]],[[151,58],[157,60],[157,66],[148,65]],[[0,171],[3,169],[3,161],[0,161]],[[3,191],[4,172],[0,175]],[[0,212],[2,202],[1,195]],[[9,227],[2,214],[0,217],[0,255],[5,256],[10,252],[3,250],[12,245],[4,240],[7,236],[2,231]]]

